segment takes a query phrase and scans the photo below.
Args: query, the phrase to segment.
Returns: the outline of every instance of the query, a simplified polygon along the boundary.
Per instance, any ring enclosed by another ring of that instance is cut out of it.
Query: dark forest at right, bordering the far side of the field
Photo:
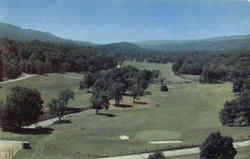
[[[200,75],[202,83],[233,81],[250,75],[250,54],[239,51],[217,54],[185,54],[175,60],[176,74]]]

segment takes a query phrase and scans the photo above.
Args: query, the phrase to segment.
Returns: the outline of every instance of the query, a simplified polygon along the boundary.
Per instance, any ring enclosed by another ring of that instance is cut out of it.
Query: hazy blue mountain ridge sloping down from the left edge
[[[36,31],[31,29],[23,29],[21,27],[0,23],[0,38],[8,38],[17,41],[48,41],[53,43],[74,43],[78,45],[93,46],[90,42],[73,41],[57,37],[51,33]]]

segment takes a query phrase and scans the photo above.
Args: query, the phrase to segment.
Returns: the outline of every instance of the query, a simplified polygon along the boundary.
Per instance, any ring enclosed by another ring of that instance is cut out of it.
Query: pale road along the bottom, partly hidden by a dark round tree
[[[235,148],[241,148],[241,147],[247,147],[247,146],[250,146],[250,141],[242,141],[242,142],[234,143]],[[198,153],[200,153],[199,147],[185,148],[185,149],[180,149],[180,150],[169,150],[169,151],[163,152],[163,154],[166,157],[185,156],[185,155],[192,155],[192,154],[198,154]],[[128,156],[106,157],[106,158],[101,158],[101,159],[145,159],[145,158],[148,158],[150,154],[151,153],[143,153],[143,154],[128,155]]]

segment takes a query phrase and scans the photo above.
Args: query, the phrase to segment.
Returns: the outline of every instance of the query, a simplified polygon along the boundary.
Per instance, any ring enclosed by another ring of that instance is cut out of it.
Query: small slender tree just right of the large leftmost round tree
[[[68,102],[70,100],[74,100],[74,92],[70,89],[61,91],[58,98],[53,98],[48,104],[50,113],[56,114],[59,120],[61,120],[67,110]]]

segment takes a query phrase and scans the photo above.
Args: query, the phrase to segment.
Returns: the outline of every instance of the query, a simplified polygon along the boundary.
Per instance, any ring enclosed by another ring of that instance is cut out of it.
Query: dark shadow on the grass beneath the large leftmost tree
[[[54,131],[52,128],[21,128],[18,130],[13,130],[17,134],[31,134],[31,135],[42,135],[51,134]]]

